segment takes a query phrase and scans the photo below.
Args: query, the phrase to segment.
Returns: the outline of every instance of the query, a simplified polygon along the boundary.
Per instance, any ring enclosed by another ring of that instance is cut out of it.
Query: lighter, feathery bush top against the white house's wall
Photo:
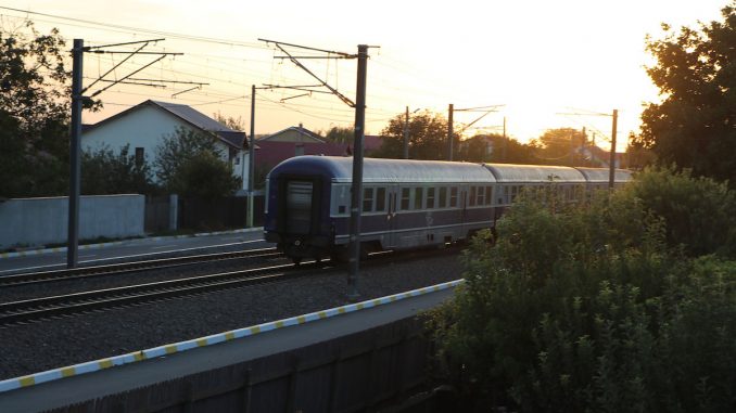
[[[173,134],[164,137],[156,147],[153,163],[158,181],[172,189],[183,164],[202,153],[220,156],[215,138],[180,127]]]

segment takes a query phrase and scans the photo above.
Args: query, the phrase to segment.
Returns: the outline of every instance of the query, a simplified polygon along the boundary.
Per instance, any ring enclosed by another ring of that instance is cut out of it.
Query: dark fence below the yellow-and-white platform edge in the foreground
[[[376,411],[424,384],[431,345],[421,332],[406,319],[52,412]]]

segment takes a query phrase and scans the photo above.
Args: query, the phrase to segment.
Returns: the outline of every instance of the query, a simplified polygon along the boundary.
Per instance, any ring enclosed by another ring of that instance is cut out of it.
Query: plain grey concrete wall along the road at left
[[[143,195],[83,196],[79,240],[142,236]],[[65,243],[68,198],[18,198],[0,203],[0,248]]]

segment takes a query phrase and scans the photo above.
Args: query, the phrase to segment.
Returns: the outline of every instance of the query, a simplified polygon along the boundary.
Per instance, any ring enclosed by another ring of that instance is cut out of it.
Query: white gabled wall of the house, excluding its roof
[[[141,106],[117,119],[83,133],[81,150],[99,151],[106,145],[114,153],[119,153],[123,146],[129,144],[129,154],[135,154],[136,147],[142,147],[145,162],[153,167],[153,162],[156,158],[156,147],[163,142],[164,138],[173,135],[177,128],[180,127],[193,130],[188,124],[168,112],[155,106]],[[228,162],[229,146],[217,141],[217,149],[223,160]],[[242,178],[243,188],[246,188],[248,154],[243,151],[238,151],[236,156],[240,158],[240,162],[236,164],[236,159],[232,159],[232,173]],[[153,169],[153,180],[157,182],[155,169]]]

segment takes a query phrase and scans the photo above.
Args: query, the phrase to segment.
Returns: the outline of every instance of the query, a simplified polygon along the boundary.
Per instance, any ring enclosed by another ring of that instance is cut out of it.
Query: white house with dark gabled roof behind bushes
[[[233,175],[242,178],[242,190],[248,189],[245,132],[230,129],[182,104],[148,100],[94,125],[85,126],[81,150],[98,151],[107,146],[118,153],[123,146],[129,145],[136,159],[153,163],[156,147],[164,138],[174,135],[179,128],[205,133],[215,139],[223,160],[230,163]]]

